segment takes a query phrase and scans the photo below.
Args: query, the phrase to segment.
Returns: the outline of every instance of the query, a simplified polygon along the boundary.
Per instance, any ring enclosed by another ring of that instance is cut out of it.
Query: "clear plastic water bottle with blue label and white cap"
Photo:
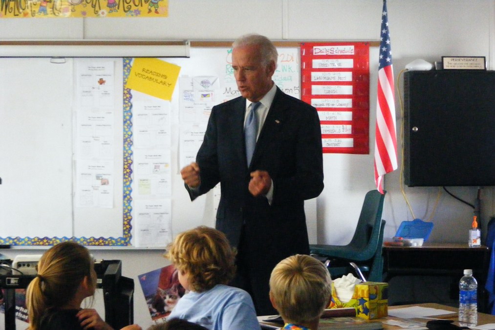
[[[478,282],[473,271],[464,270],[459,281],[459,324],[461,327],[474,327],[478,323]]]

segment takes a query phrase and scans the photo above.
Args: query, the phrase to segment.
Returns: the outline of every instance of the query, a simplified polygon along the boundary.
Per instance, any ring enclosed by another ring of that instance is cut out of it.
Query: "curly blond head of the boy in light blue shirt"
[[[227,284],[235,274],[235,252],[219,230],[199,226],[177,235],[166,257],[180,275],[187,274],[189,288],[203,292],[217,284]],[[181,279],[181,276],[179,276]]]

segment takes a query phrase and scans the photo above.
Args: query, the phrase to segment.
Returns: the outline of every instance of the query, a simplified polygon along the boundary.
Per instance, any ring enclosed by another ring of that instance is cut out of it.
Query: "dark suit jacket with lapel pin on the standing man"
[[[304,200],[323,190],[320,121],[315,108],[277,88],[248,168],[245,112],[243,97],[213,107],[197,156],[201,184],[196,192],[186,188],[194,200],[220,182],[216,228],[236,247],[245,224],[244,235],[255,254],[251,257],[269,254],[273,265],[309,253]],[[273,180],[271,205],[248,191],[249,173],[258,169]]]

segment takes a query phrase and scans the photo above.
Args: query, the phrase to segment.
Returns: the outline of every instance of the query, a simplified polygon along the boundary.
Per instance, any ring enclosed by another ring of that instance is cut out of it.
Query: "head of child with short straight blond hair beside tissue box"
[[[270,300],[285,322],[319,319],[331,295],[330,273],[321,261],[307,255],[282,260],[270,276]]]

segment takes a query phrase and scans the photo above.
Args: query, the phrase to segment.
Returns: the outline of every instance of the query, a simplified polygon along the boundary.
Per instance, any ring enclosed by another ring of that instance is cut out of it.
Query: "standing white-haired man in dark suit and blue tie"
[[[213,107],[196,163],[181,170],[191,200],[220,182],[216,228],[238,249],[232,284],[251,294],[258,315],[276,314],[268,298],[275,265],[309,253],[304,200],[323,190],[318,114],[274,84],[277,58],[266,37],[234,42],[232,67],[242,97]],[[244,127],[255,102],[261,103],[259,125],[248,164]]]

